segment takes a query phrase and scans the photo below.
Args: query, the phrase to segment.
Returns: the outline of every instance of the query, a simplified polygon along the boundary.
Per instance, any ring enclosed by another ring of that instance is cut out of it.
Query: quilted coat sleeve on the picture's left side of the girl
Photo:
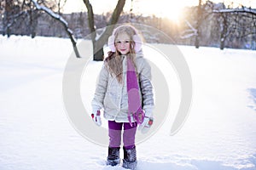
[[[103,100],[108,88],[108,69],[106,64],[102,66],[99,76],[96,81],[96,92],[91,101],[92,113],[96,113],[103,108]]]

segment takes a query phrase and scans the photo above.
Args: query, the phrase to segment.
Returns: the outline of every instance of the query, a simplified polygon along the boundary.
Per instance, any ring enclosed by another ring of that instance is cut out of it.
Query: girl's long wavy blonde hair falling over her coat
[[[132,64],[134,65],[137,71],[137,65],[135,63],[136,53],[134,50],[135,42],[132,37],[137,34],[135,28],[133,26],[124,25],[120,26],[113,32],[114,40],[120,34],[127,34],[130,37],[130,51],[126,54],[127,58],[130,58]],[[122,54],[120,54],[117,50],[115,52],[109,51],[108,57],[105,59],[105,63],[108,67],[108,71],[110,72],[112,77],[116,77],[118,82],[121,84],[123,82],[123,59]]]

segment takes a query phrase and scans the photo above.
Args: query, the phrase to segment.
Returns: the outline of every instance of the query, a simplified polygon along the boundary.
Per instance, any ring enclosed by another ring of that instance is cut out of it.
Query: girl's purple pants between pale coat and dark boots
[[[122,127],[124,126],[123,142],[126,150],[131,150],[135,146],[135,134],[137,122],[115,122],[108,121],[109,147],[118,148],[121,144]]]

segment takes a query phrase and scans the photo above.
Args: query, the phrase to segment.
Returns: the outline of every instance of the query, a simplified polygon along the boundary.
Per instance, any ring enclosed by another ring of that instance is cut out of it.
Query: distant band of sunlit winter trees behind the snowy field
[[[0,2],[0,34],[44,37],[68,37],[61,23],[38,11],[32,4],[22,6],[15,0]],[[25,1],[23,1],[25,2]],[[26,3],[29,3],[27,0]],[[57,8],[52,3],[42,1],[41,5]],[[56,9],[55,9],[56,10]],[[58,14],[61,14],[58,8]],[[108,26],[112,13],[94,14],[96,31]],[[88,13],[61,14],[76,38],[90,38]],[[142,14],[121,13],[118,23],[137,23],[164,31],[173,43],[218,48],[256,49],[256,13],[253,8],[229,8],[224,3],[207,1],[198,6],[184,8],[183,19],[176,23],[168,18],[143,16]],[[142,30],[143,32],[143,30]],[[164,42],[157,36],[144,35],[146,42]]]

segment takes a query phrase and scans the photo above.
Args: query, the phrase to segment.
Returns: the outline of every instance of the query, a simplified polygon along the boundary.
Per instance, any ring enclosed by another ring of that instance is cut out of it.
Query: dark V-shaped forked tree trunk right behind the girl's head
[[[90,38],[93,45],[93,59],[94,60],[102,60],[104,53],[103,53],[103,46],[105,42],[107,42],[108,37],[111,35],[113,31],[113,25],[115,25],[118,20],[123,8],[125,6],[125,0],[119,0],[116,7],[113,10],[113,14],[108,21],[107,28],[102,32],[100,36],[96,35],[96,26],[94,23],[94,13],[92,5],[90,4],[89,0],[83,0],[84,4],[87,8],[88,13],[88,24],[90,27]]]

